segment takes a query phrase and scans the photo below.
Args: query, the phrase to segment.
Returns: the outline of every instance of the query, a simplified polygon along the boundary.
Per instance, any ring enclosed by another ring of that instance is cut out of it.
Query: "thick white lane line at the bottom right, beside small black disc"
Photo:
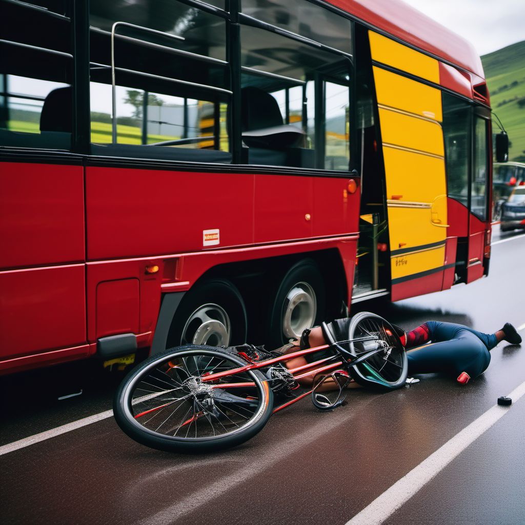
[[[514,388],[508,397],[512,398],[513,403],[516,403],[523,394],[525,394],[525,381]],[[499,405],[489,408],[487,412],[438,448],[434,454],[428,456],[406,476],[395,482],[381,496],[374,499],[370,505],[347,521],[345,525],[380,525],[383,523],[508,411],[509,407]]]

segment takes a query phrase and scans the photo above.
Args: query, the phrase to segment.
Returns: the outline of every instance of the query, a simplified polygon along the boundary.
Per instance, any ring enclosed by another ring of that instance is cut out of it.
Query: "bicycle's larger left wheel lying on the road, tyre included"
[[[146,360],[113,401],[120,428],[159,450],[201,452],[245,442],[272,412],[273,393],[258,371],[206,377],[247,363],[214,346],[186,345]]]

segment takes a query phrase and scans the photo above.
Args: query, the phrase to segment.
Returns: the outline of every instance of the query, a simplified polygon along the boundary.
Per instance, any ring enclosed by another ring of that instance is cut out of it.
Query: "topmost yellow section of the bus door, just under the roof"
[[[439,84],[439,62],[374,31],[369,31],[372,59]]]

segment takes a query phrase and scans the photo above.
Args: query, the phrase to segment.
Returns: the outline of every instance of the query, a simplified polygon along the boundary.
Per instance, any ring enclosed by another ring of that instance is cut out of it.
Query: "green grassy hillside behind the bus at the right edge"
[[[509,160],[525,162],[525,40],[484,55],[481,61],[492,110],[509,134]],[[496,122],[493,131],[499,131]]]

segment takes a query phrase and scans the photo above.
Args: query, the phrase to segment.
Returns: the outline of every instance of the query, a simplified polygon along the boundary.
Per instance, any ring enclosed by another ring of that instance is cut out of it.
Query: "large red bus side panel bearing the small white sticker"
[[[205,230],[251,244],[253,188],[253,175],[87,167],[88,259],[202,250]]]

